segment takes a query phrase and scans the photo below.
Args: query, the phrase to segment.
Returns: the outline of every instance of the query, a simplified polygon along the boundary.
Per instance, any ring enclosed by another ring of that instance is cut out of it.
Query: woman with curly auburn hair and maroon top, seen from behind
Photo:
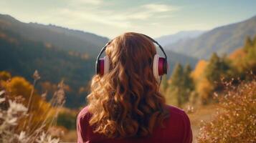
[[[188,116],[159,92],[152,40],[129,32],[106,45],[105,69],[77,116],[77,142],[192,142]]]

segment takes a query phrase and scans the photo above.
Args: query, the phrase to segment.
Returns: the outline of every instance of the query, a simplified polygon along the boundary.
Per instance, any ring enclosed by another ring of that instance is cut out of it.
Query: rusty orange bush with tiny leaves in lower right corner
[[[225,93],[219,96],[217,116],[203,123],[198,142],[256,142],[256,80]]]

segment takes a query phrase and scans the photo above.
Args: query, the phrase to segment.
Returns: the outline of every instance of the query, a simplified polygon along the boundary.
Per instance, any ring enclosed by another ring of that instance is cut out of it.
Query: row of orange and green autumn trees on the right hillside
[[[194,70],[177,63],[170,78],[163,77],[161,92],[168,104],[209,104],[214,93],[222,92],[224,82],[239,84],[250,81],[256,73],[256,36],[247,37],[242,48],[222,56],[213,53],[209,60],[200,60]]]

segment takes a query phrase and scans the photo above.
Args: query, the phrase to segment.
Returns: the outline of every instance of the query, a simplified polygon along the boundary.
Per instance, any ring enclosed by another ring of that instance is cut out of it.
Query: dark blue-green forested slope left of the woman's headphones
[[[13,31],[0,28],[0,71],[9,71],[13,76],[22,76],[33,82],[32,74],[37,69],[42,77],[37,89],[44,82],[57,84],[64,80],[70,87],[66,91],[67,107],[79,107],[85,104],[85,88],[94,71],[95,59],[83,59],[72,56],[63,49],[47,46],[39,41],[24,39]],[[45,92],[48,89],[39,90]],[[48,91],[49,92],[49,91]],[[49,93],[49,96],[52,93]]]

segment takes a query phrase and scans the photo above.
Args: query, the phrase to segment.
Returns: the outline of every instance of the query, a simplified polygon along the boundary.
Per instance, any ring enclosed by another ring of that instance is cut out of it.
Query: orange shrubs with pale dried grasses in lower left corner
[[[37,71],[33,77],[34,84],[22,77],[0,80],[0,142],[59,142],[51,132],[65,104],[65,84],[58,84],[48,103],[46,93],[41,97],[35,93],[34,85],[40,79]]]

